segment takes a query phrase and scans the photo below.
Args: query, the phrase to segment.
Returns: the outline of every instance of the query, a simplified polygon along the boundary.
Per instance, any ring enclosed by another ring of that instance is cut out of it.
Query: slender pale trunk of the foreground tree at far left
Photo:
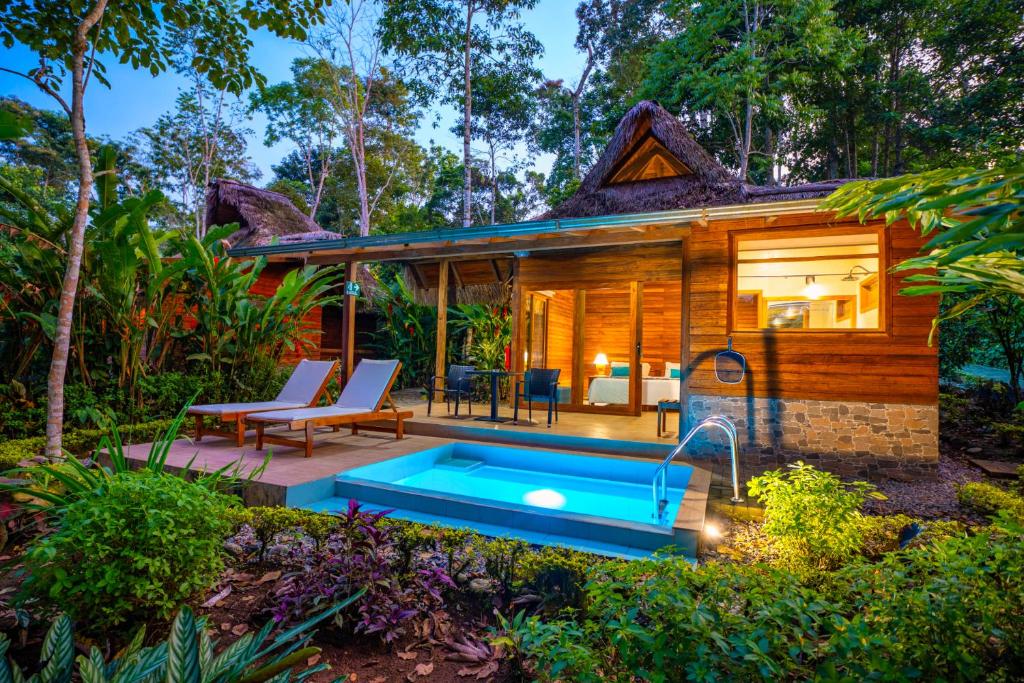
[[[108,0],[97,0],[75,30],[72,45],[72,102],[71,129],[78,155],[78,201],[68,244],[68,266],[60,287],[60,304],[57,312],[56,332],[53,338],[53,356],[46,378],[46,455],[57,457],[63,437],[63,386],[71,351],[72,319],[75,298],[82,270],[82,251],[85,248],[85,227],[89,222],[89,200],[92,196],[92,158],[85,137],[85,54],[89,49],[89,32],[99,22],[106,9]]]

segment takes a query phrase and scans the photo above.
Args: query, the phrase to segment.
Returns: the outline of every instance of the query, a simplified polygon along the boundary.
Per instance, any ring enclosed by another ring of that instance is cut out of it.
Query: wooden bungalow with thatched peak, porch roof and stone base
[[[577,194],[537,220],[233,253],[349,271],[404,262],[436,296],[438,366],[451,285],[506,283],[512,370],[560,369],[562,412],[601,420],[678,401],[682,427],[732,418],[748,461],[933,475],[937,301],[899,296],[903,274],[890,272],[923,241],[905,224],[819,212],[840,184],[741,182],[678,119],[640,102]],[[746,358],[739,384],[714,372],[730,339]]]

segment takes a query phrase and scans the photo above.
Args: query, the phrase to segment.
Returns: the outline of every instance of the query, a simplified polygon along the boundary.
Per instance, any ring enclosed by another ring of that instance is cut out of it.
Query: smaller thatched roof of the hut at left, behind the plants
[[[228,223],[239,224],[227,240],[232,247],[262,247],[274,238],[289,243],[339,237],[321,228],[280,193],[219,178],[206,190],[206,224]]]

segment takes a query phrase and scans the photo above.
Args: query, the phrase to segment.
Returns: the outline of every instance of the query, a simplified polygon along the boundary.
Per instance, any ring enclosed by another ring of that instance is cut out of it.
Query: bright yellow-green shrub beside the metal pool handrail
[[[860,507],[873,494],[871,484],[847,483],[798,462],[787,471],[754,477],[748,486],[765,506],[763,529],[783,563],[827,569],[860,552],[864,541]]]

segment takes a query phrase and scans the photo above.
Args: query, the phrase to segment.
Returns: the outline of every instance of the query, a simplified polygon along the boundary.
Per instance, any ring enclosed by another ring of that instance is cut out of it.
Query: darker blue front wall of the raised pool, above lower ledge
[[[335,480],[334,495],[346,505],[349,499],[354,499],[367,505],[416,513],[418,517],[424,516],[428,520],[452,520],[456,526],[479,524],[501,527],[504,532],[498,536],[559,537],[572,540],[575,547],[604,544],[633,548],[648,554],[674,546],[677,552],[690,557],[696,554],[695,532],[652,523],[554,512],[483,498],[455,498],[435,492],[411,492],[393,484],[348,477]],[[481,490],[480,495],[485,496],[486,492]],[[395,514],[401,516],[397,512]]]

